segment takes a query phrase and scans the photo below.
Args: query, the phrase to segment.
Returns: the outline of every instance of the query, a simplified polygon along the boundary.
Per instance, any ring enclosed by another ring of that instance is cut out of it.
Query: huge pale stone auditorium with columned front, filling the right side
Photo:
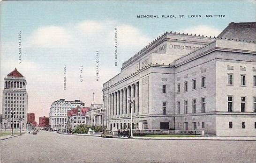
[[[136,129],[255,136],[255,34],[256,22],[232,22],[218,38],[159,36],[103,85],[107,128],[129,128],[132,113]]]

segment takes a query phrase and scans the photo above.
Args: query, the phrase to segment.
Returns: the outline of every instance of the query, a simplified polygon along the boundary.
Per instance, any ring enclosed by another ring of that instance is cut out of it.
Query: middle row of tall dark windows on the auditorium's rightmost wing
[[[227,96],[227,111],[233,112],[233,96]],[[253,97],[253,111],[256,112],[256,97]],[[246,97],[241,97],[241,112],[246,112]]]

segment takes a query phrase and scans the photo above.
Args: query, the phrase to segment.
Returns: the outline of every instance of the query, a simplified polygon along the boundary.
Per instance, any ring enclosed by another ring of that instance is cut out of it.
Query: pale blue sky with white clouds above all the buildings
[[[180,1],[2,1],[0,3],[0,90],[17,67],[27,79],[29,112],[48,116],[57,99],[102,103],[102,85],[121,64],[166,31],[217,36],[230,22],[256,21],[255,0]],[[137,15],[185,15],[186,18],[137,18]],[[203,18],[188,18],[201,14]],[[205,18],[225,14],[225,18]],[[118,31],[118,66],[113,34]],[[18,32],[22,63],[18,64]],[[100,81],[95,82],[95,52],[100,51]],[[68,90],[63,90],[63,66]],[[79,68],[83,65],[83,82]],[[2,105],[0,105],[2,106]]]

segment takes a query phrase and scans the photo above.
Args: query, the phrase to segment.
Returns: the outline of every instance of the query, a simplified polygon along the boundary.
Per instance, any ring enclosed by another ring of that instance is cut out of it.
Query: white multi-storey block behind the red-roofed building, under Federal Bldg
[[[60,99],[54,101],[49,113],[50,128],[53,130],[56,130],[57,128],[66,128],[68,110],[76,108],[77,106],[83,107],[84,103],[80,100],[65,101],[65,99]]]

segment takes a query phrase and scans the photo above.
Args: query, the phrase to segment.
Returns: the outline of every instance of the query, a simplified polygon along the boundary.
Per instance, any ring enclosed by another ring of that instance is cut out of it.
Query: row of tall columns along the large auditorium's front
[[[128,102],[128,97],[131,99],[135,97],[135,101],[132,104],[132,113],[138,115],[139,108],[139,82],[133,83],[126,87],[111,92],[108,95],[108,118],[125,117],[130,116],[131,107]]]

